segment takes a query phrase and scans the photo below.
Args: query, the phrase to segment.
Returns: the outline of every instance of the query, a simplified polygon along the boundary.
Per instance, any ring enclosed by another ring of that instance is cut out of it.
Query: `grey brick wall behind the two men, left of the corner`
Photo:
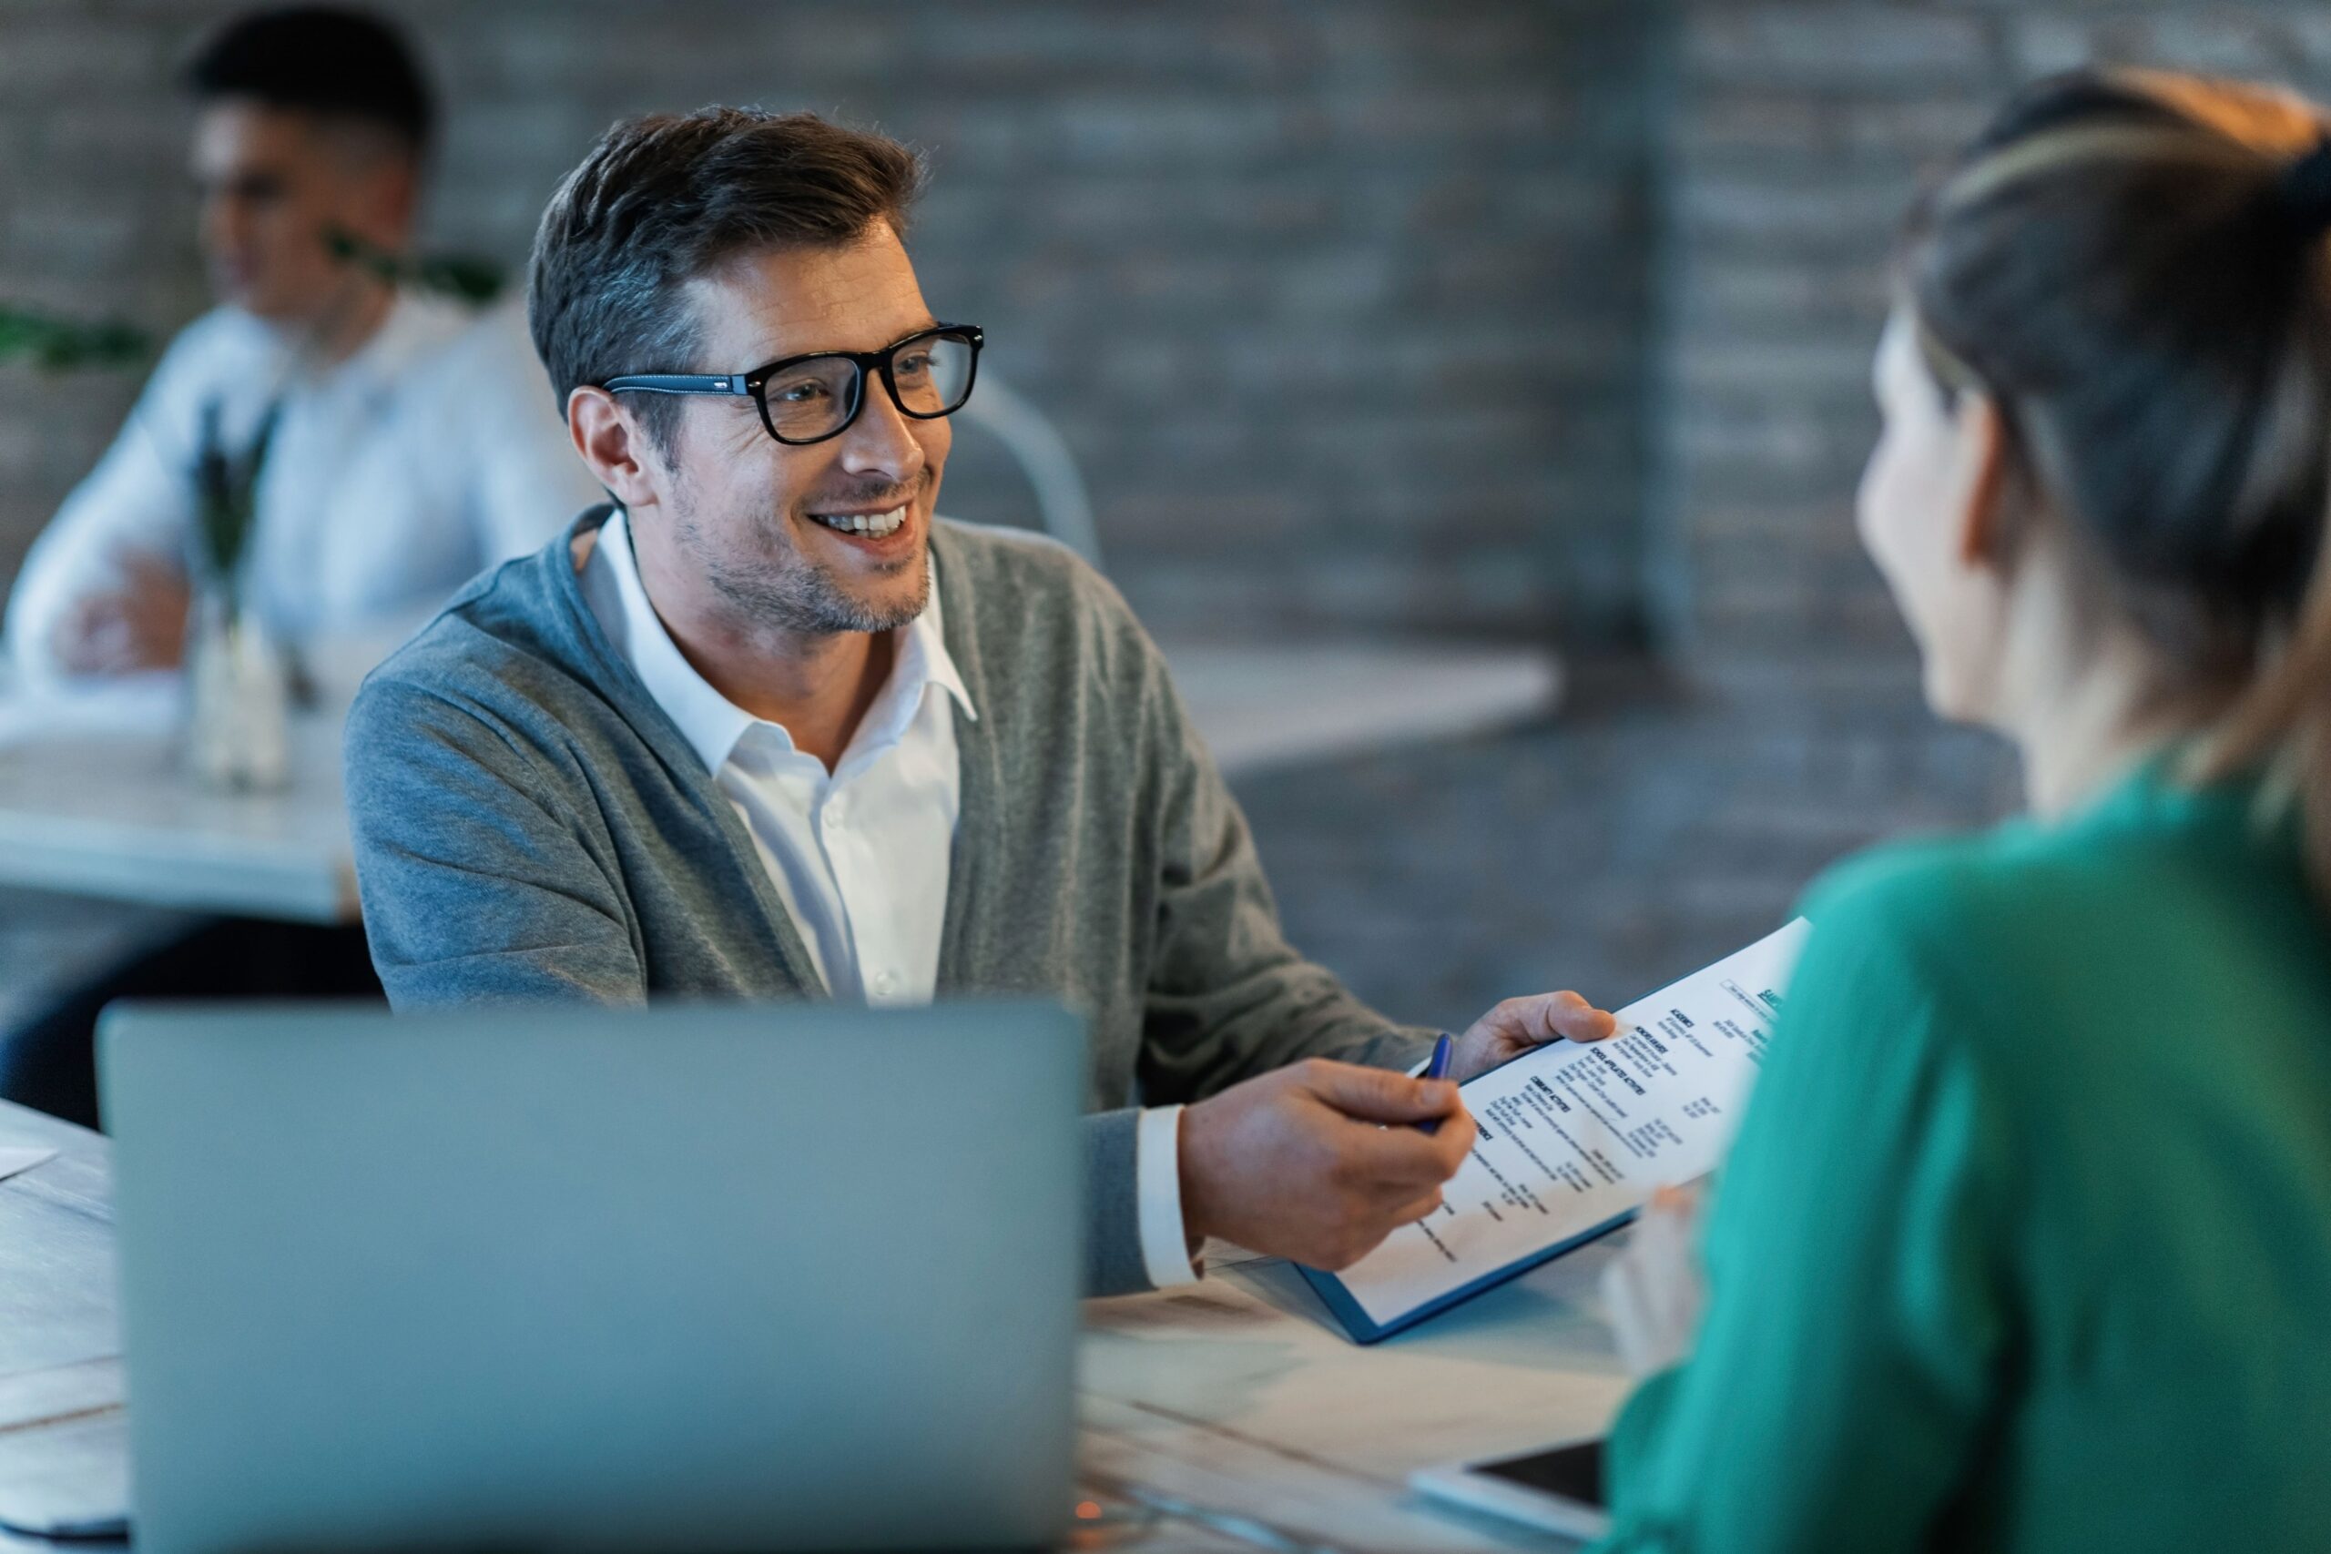
[[[0,298],[203,303],[170,61],[219,5],[9,0]],[[1166,624],[1625,631],[1650,21],[1632,0],[392,0],[445,86],[429,238],[515,261],[613,116],[837,110],[930,149],[942,312],[1082,457]],[[126,377],[0,370],[0,575]],[[951,508],[1014,517],[965,438]]]

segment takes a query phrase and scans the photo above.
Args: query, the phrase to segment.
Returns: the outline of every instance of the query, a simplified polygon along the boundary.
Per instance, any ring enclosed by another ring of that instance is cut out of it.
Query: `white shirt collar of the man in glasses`
[[[706,771],[720,771],[737,750],[737,741],[755,727],[772,729],[788,750],[793,748],[793,734],[783,725],[765,722],[723,697],[681,655],[655,606],[648,603],[646,585],[639,580],[639,557],[632,552],[632,524],[622,508],[615,508],[606,524],[599,527],[599,541],[592,548],[587,566],[606,566],[622,608],[620,622],[601,620],[599,624],[615,641],[622,657],[629,659],[632,671],[648,687],[655,704],[681,729],[681,736],[704,762]],[[937,557],[930,559],[930,603],[897,631],[897,659],[890,664],[890,680],[874,697],[874,706],[867,708],[865,722],[851,739],[853,755],[895,743],[907,732],[907,725],[914,722],[932,687],[951,694],[965,718],[972,722],[979,720],[972,692],[963,685],[956,659],[946,652]]]

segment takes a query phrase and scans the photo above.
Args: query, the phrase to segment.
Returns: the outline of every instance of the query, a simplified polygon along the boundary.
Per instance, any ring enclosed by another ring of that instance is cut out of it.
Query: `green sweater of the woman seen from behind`
[[[2252,799],[1814,895],[1611,1549],[2331,1549],[2331,916]]]

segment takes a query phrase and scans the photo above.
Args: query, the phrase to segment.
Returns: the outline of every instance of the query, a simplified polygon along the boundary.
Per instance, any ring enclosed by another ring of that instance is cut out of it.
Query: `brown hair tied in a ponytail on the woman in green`
[[[2266,771],[2331,897],[2331,147],[2301,100],[2140,72],[2016,98],[1911,214],[1946,391],[2207,708],[2191,780]]]

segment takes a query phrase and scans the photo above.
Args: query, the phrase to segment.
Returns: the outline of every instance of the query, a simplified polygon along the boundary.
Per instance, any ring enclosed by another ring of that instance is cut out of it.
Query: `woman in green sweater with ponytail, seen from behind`
[[[1604,1547],[2331,1549],[2326,238],[2315,112],[2177,77],[1918,207],[1860,527],[2033,813],[1811,895]]]

